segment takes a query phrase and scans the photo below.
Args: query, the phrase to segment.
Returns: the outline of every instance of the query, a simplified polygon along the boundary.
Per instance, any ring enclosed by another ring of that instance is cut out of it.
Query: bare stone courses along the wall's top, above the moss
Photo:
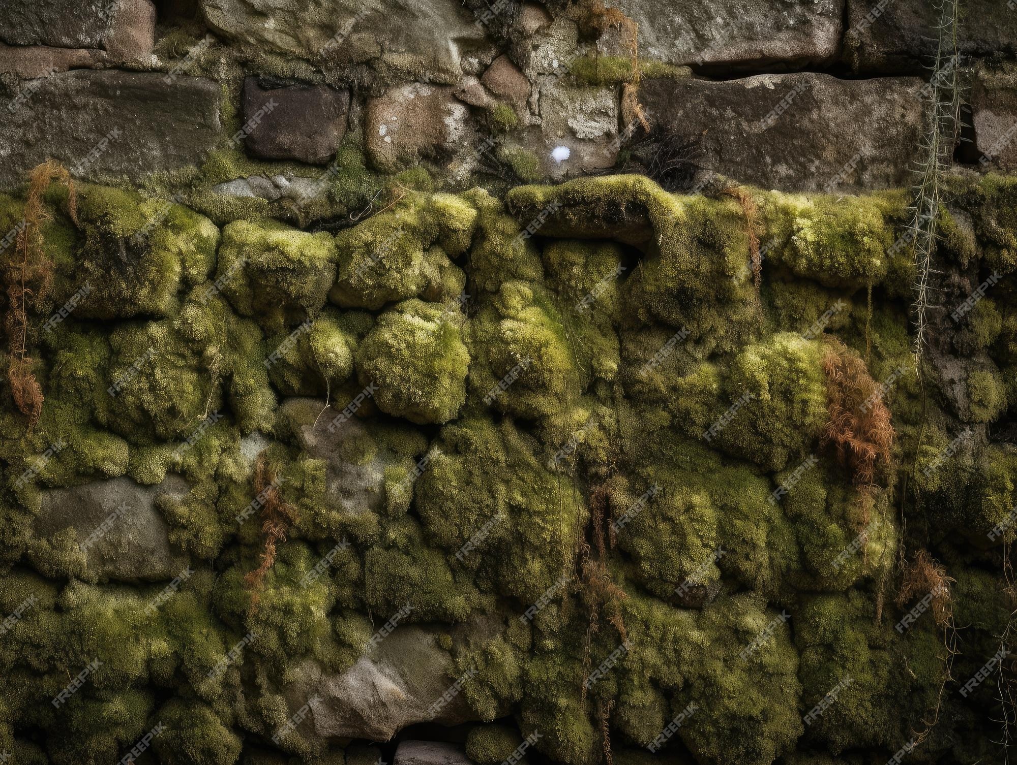
[[[764,188],[852,191],[908,180],[917,77],[932,53],[926,5],[618,7],[639,24],[638,101],[651,141],[671,131],[699,144],[702,168]],[[147,181],[207,204],[292,195],[294,179],[334,167],[341,146],[362,152],[369,171],[426,167],[460,189],[609,172],[638,164],[631,146],[646,137],[621,103],[630,37],[583,4],[66,6],[12,0],[0,11],[0,129],[18,136],[4,146],[8,187],[47,156],[85,163],[111,131],[117,147],[81,166],[81,178]],[[966,167],[983,169],[984,154],[989,167],[1017,163],[1006,140],[1017,121],[1014,40],[1017,13],[1005,2],[966,6]],[[785,98],[780,117],[764,122]],[[569,157],[552,158],[556,147]],[[199,172],[212,163],[217,173]]]

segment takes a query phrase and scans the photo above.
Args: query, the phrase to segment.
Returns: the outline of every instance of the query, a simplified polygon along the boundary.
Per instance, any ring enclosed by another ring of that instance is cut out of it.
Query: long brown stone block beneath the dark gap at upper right
[[[915,78],[841,80],[761,74],[726,82],[649,80],[640,99],[651,122],[702,136],[700,165],[785,191],[819,191],[846,165],[840,191],[906,185],[921,104]],[[772,124],[764,121],[793,94]]]

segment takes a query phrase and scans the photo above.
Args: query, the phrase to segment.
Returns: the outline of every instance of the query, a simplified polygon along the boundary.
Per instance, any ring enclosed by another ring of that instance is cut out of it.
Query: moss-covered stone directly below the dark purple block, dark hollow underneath
[[[306,319],[324,305],[336,277],[338,251],[331,235],[305,234],[284,224],[237,220],[223,230],[215,291],[242,316],[278,329]]]

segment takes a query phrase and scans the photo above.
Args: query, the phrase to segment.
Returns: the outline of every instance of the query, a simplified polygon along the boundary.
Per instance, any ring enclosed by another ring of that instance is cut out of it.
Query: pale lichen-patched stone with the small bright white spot
[[[614,88],[573,87],[550,79],[540,91],[541,142],[538,155],[544,174],[560,179],[609,168],[618,155],[618,109]],[[555,162],[551,151],[569,149]]]

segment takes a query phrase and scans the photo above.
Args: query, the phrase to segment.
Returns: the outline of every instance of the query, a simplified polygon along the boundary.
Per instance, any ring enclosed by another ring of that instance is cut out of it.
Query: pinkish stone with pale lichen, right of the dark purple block
[[[367,102],[367,154],[393,172],[421,158],[446,162],[469,142],[469,111],[452,87],[411,82]]]

